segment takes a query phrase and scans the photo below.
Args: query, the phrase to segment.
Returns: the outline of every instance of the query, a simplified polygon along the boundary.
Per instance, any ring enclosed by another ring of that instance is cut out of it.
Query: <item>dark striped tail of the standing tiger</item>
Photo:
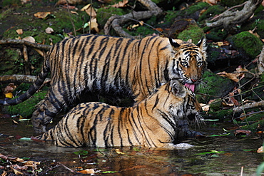
[[[39,88],[42,86],[46,77],[49,74],[49,63],[47,62],[48,61],[46,61],[45,59],[41,69],[41,73],[39,73],[39,75],[36,78],[36,81],[31,85],[31,87],[29,88],[29,90],[26,91],[26,93],[11,100],[0,100],[0,105],[17,105],[19,103],[24,102],[24,100],[29,99],[32,95],[34,95],[34,93],[36,93],[36,91],[39,90]]]

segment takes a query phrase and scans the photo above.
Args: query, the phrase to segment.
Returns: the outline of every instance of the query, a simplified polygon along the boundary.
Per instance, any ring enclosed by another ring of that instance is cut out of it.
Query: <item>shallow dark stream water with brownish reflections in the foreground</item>
[[[0,118],[0,133],[30,137],[33,130],[28,124],[14,125],[11,118]],[[231,127],[230,123],[210,126],[212,124],[208,123],[198,131],[208,136],[223,134],[223,128]],[[263,154],[256,152],[262,140],[256,137],[228,135],[197,138],[183,141],[195,145],[188,150],[151,150],[141,147],[66,148],[1,136],[0,153],[41,162],[38,165],[41,170],[36,175],[76,175],[70,170],[86,169],[92,169],[96,175],[240,175],[242,167],[243,175],[255,175],[258,165],[263,162]],[[80,150],[87,151],[86,155],[73,153]],[[223,152],[203,153],[211,150]],[[4,163],[0,161],[1,165]],[[9,172],[12,173],[11,170]],[[32,175],[27,171],[24,174]]]

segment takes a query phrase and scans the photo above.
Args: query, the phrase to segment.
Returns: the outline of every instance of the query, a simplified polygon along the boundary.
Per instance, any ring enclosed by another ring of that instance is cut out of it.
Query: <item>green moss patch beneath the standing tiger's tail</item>
[[[23,103],[7,106],[5,108],[10,114],[20,114],[23,117],[29,117],[34,112],[35,105],[45,98],[46,93],[47,91],[39,91],[39,93],[35,93],[32,98],[25,100]]]

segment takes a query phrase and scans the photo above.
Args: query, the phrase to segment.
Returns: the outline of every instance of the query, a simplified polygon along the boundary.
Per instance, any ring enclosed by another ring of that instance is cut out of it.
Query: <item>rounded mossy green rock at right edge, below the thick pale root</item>
[[[235,36],[228,38],[228,41],[230,41],[230,43],[233,43],[235,48],[245,53],[251,59],[260,54],[263,46],[263,42],[248,31],[240,32]]]

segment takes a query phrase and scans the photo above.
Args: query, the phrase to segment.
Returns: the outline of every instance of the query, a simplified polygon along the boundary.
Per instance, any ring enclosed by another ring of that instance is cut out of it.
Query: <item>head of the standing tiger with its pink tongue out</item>
[[[178,79],[183,85],[195,90],[206,67],[206,40],[201,38],[195,45],[191,40],[181,41],[169,38],[173,47],[173,59],[168,64],[168,77]]]

